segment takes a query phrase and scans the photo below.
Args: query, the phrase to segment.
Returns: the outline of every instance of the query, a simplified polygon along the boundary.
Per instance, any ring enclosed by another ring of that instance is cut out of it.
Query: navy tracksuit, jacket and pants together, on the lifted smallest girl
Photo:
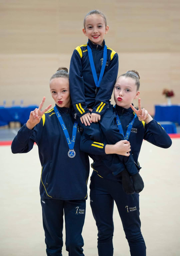
[[[95,69],[99,79],[105,41],[103,42],[103,46],[101,46],[95,45],[88,40],[88,45],[92,49]],[[113,88],[116,83],[117,74],[118,55],[111,48],[107,47],[107,63],[100,84],[100,89],[96,95],[96,85],[89,62],[87,44],[80,45],[74,50],[70,62],[71,99],[78,117],[88,113],[88,108],[93,109],[92,113],[101,115],[101,121],[99,122],[101,124],[101,128],[99,127],[99,123],[92,123],[90,126],[85,126],[80,120],[78,120],[79,125],[83,126],[86,133],[90,136],[90,139],[93,138],[97,142],[99,142],[98,139],[101,136],[101,132],[105,134],[108,144],[113,144],[123,139],[123,136],[119,134],[119,131],[116,128],[112,130],[112,117],[109,117],[109,99],[111,98]],[[112,137],[112,133],[115,139]],[[114,173],[120,173],[125,169],[125,167],[131,175],[138,172],[131,155],[129,158],[119,155],[117,159],[118,158],[119,160],[116,161],[116,170],[114,170]],[[107,161],[107,165],[110,164],[108,157],[105,159],[105,161]],[[124,164],[122,164],[122,162]]]

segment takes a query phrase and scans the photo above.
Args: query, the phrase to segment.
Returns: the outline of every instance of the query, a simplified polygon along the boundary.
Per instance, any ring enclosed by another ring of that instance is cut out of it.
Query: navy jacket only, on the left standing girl
[[[56,107],[61,113],[71,139],[74,124],[72,109],[59,108],[57,105]],[[88,154],[80,150],[80,139],[80,128],[78,128],[74,145],[76,156],[69,158],[67,139],[54,108],[47,111],[40,123],[32,130],[29,130],[24,124],[17,133],[11,145],[14,154],[29,152],[33,148],[34,142],[38,145],[42,166],[41,198],[87,199],[89,159]]]

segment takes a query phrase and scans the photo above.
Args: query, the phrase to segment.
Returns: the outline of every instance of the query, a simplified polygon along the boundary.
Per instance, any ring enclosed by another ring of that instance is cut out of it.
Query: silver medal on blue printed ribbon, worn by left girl
[[[74,125],[73,125],[73,134],[72,134],[72,138],[70,140],[70,136],[69,136],[69,133],[67,131],[67,128],[63,122],[63,119],[61,117],[61,114],[59,113],[59,111],[57,110],[56,106],[54,107],[54,111],[56,113],[56,116],[61,124],[61,127],[63,129],[63,132],[64,132],[64,135],[67,139],[67,144],[68,144],[68,147],[69,147],[69,151],[68,151],[68,157],[70,158],[73,158],[75,157],[76,155],[76,152],[74,151],[74,144],[75,144],[75,140],[76,140],[76,132],[77,132],[77,126],[78,126],[78,123],[77,122],[74,122]]]

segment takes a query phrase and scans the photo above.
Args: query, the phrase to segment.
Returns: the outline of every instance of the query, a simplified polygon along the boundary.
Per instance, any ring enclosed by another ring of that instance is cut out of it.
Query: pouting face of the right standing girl
[[[131,77],[119,76],[114,87],[114,100],[122,108],[130,108],[133,99],[138,98],[139,91]]]

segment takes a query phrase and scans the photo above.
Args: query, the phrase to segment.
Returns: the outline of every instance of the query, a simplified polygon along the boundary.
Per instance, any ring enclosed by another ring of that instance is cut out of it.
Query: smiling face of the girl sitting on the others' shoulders
[[[106,26],[104,18],[99,14],[91,14],[86,18],[85,28],[82,29],[85,36],[93,44],[103,45],[104,35],[107,34],[109,26]]]

